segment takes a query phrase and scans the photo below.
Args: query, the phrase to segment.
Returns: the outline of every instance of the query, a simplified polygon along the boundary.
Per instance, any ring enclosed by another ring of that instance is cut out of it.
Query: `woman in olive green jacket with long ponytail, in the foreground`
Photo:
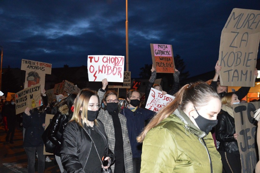
[[[220,109],[208,84],[182,87],[137,138],[143,142],[141,172],[221,173],[221,156],[209,132]]]

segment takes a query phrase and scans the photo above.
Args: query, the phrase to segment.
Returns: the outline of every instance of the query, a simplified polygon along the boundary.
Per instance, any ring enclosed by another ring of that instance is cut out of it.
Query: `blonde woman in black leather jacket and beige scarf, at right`
[[[220,142],[218,152],[221,155],[226,173],[239,173],[241,172],[241,162],[232,105],[240,101],[236,94],[227,93],[222,97],[221,102],[222,107],[217,117],[218,124],[216,126],[216,139]]]

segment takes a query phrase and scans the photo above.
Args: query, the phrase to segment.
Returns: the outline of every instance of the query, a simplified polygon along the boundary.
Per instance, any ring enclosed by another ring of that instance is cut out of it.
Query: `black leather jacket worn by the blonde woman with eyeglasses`
[[[112,164],[115,161],[115,156],[108,148],[107,135],[104,125],[100,120],[97,121],[99,125],[95,126],[94,130],[96,130],[103,137],[105,142],[104,156],[110,157],[110,159],[112,159]],[[89,129],[88,133],[90,133]],[[69,122],[64,128],[60,150],[61,162],[65,170],[70,173],[84,172],[91,147],[94,147],[94,145],[92,145],[92,141],[85,130],[78,123],[76,123],[76,121]]]

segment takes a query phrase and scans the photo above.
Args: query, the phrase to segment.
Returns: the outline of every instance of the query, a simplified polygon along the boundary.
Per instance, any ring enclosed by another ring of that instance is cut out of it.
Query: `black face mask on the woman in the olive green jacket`
[[[208,120],[207,118],[201,116],[196,108],[195,110],[199,115],[197,118],[194,118],[195,122],[197,123],[201,131],[204,131],[206,134],[208,134],[212,130],[212,128],[218,124],[218,120]]]

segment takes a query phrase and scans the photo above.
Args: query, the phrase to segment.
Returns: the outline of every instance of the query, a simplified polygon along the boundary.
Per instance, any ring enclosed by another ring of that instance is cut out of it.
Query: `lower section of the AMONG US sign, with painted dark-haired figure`
[[[45,74],[26,70],[24,88],[34,86],[38,83],[41,84],[41,88],[43,89],[45,86]]]

